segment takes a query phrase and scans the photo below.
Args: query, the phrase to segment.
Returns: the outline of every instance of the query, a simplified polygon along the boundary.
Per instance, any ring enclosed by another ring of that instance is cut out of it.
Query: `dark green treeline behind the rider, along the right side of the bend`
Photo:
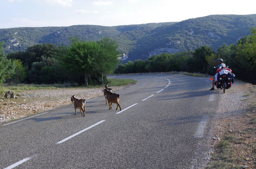
[[[236,78],[256,84],[256,28],[250,31],[252,35],[242,37],[237,44],[224,44],[217,52],[202,46],[194,51],[158,54],[145,61],[119,64],[114,73],[185,71],[214,75],[216,69],[213,66],[217,66],[217,59],[222,58]]]

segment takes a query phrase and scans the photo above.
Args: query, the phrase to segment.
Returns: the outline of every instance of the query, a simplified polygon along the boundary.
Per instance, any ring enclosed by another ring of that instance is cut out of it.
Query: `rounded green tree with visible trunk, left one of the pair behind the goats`
[[[72,38],[70,45],[70,47],[67,47],[67,54],[62,60],[72,72],[83,72],[85,84],[88,86],[88,78],[95,71],[96,58],[100,53],[100,44]]]

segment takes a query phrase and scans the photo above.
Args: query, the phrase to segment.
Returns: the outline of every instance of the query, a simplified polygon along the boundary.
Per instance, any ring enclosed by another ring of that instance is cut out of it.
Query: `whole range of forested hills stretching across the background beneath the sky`
[[[250,34],[256,26],[253,15],[210,15],[181,22],[152,23],[123,26],[74,25],[68,27],[24,27],[0,29],[0,41],[4,41],[6,53],[46,43],[69,44],[71,36],[88,41],[111,37],[119,42],[119,50],[128,59],[147,59],[162,52],[175,53],[194,50],[203,45],[214,50],[223,43],[233,44]]]

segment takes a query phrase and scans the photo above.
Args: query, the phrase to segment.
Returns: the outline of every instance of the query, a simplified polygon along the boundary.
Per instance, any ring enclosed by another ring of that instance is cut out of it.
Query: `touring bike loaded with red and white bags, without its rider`
[[[214,68],[216,67],[214,66]],[[217,69],[216,74],[217,80],[215,79],[215,85],[217,89],[223,89],[223,93],[225,93],[225,90],[231,88],[232,83],[234,83],[235,74],[232,73],[232,70],[228,66]],[[212,78],[210,79],[213,80]]]

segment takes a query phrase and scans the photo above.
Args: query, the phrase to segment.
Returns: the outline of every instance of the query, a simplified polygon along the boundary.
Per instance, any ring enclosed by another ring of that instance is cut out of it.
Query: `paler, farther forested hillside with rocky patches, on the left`
[[[71,36],[82,40],[96,41],[111,37],[119,42],[119,50],[128,54],[138,39],[162,25],[174,23],[153,23],[124,26],[74,25],[68,27],[24,27],[0,29],[0,41],[4,41],[5,53],[26,50],[35,44],[53,43],[68,45]]]

